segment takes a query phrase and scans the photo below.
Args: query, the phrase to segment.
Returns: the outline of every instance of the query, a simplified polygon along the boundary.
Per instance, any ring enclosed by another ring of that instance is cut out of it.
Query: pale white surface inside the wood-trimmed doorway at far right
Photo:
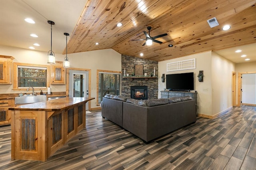
[[[242,103],[256,104],[256,74],[242,74]]]

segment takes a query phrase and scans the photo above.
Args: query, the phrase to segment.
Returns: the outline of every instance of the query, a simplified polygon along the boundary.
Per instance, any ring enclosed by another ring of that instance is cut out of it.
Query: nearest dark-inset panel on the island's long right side
[[[64,110],[56,111],[48,120],[48,157],[64,145]]]

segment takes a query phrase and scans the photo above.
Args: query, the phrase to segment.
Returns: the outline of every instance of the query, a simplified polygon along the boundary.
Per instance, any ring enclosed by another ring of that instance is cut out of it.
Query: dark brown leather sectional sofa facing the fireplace
[[[106,95],[101,106],[102,117],[146,143],[196,122],[196,102],[191,97],[134,100]]]

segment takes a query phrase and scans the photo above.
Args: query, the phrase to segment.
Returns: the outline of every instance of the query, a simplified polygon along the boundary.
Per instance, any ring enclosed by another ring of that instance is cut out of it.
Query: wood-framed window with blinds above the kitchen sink
[[[46,88],[46,83],[46,67],[18,66],[18,88],[29,86]]]

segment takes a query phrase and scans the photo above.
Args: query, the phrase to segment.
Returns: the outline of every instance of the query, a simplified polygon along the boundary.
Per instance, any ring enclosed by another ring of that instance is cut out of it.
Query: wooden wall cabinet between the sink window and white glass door
[[[65,68],[62,61],[51,64],[51,84],[65,84]]]

